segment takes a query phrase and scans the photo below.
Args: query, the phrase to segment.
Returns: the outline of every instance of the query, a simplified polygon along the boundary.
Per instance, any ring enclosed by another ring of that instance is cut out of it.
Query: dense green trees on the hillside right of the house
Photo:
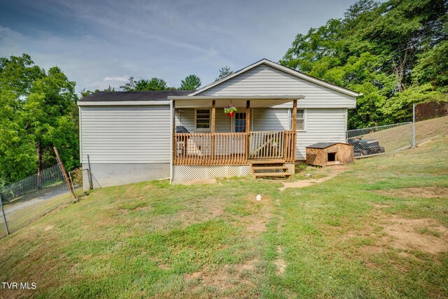
[[[360,0],[297,34],[280,63],[362,92],[349,127],[409,121],[412,103],[447,97],[447,11],[444,0]]]

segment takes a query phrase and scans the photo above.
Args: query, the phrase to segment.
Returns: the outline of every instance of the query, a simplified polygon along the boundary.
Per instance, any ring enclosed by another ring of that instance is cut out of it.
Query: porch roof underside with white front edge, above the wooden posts
[[[227,107],[230,101],[232,106],[245,107],[246,101],[251,101],[251,108],[272,107],[292,102],[294,99],[304,99],[302,95],[259,96],[259,97],[168,97],[176,101],[176,108],[211,108],[211,102],[216,101],[216,108]]]

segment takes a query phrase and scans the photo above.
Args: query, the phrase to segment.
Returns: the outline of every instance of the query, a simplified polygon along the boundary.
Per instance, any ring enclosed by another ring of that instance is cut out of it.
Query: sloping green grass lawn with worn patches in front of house
[[[447,141],[306,188],[95,190],[0,239],[0,281],[37,284],[0,298],[446,298]],[[291,181],[331,172],[299,169]]]

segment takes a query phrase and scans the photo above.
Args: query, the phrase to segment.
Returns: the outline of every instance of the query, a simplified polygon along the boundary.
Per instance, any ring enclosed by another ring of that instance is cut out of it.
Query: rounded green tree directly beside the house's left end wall
[[[42,170],[55,163],[53,146],[68,169],[78,165],[75,85],[58,67],[52,67],[34,81],[25,102],[22,121],[36,148],[39,183]]]

